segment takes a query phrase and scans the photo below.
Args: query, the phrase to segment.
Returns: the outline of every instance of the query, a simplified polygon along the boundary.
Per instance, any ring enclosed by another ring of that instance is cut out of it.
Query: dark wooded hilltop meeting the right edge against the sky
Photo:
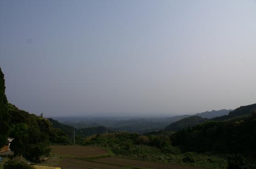
[[[229,112],[228,115],[220,116],[213,118],[213,121],[223,121],[227,119],[232,119],[234,117],[248,115],[256,111],[256,104],[248,105],[248,106],[240,106],[236,108],[234,111]]]

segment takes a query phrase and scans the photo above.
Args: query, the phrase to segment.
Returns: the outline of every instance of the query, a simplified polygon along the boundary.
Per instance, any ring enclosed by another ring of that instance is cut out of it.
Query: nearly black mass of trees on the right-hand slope
[[[205,122],[171,136],[183,151],[256,154],[256,116],[239,121]]]

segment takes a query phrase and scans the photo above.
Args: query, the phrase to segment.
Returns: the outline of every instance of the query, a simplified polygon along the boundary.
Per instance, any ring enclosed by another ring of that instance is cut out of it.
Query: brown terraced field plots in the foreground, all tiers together
[[[107,151],[92,146],[51,146],[51,148],[54,154],[51,157],[54,158],[54,166],[61,169],[204,169],[114,157],[108,155]],[[53,163],[51,158],[47,160],[49,165]]]

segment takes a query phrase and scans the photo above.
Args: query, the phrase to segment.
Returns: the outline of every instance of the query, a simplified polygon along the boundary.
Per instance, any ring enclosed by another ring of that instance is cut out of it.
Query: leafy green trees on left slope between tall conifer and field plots
[[[50,143],[65,144],[67,135],[54,130],[49,120],[30,114],[8,104],[10,120],[10,137],[14,138],[11,150],[14,156],[24,156],[27,160],[37,162],[40,156],[49,154]]]

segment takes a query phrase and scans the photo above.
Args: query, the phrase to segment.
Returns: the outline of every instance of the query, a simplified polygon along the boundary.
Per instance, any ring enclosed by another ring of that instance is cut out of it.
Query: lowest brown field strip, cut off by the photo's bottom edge
[[[79,160],[79,159],[74,159],[74,158],[64,158],[61,160],[60,164],[61,165],[73,164],[76,166],[83,166],[85,168],[88,167],[88,168],[95,168],[95,169],[123,169],[123,168],[125,168],[124,166],[97,163],[97,162]],[[70,166],[70,167],[72,167],[72,166]],[[67,166],[66,166],[66,168],[67,168]],[[66,169],[66,168],[64,168],[64,169]],[[67,169],[72,169],[72,168],[68,167]]]

